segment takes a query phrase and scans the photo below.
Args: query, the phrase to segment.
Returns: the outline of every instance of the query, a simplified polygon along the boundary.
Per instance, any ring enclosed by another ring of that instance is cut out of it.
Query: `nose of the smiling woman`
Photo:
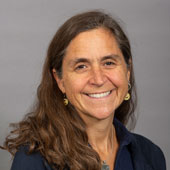
[[[93,68],[91,74],[90,84],[102,86],[106,82],[106,76],[101,68]]]

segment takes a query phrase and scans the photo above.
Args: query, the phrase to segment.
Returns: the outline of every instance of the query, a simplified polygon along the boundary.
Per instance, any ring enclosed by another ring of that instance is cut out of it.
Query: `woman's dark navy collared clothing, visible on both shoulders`
[[[165,157],[157,145],[141,135],[129,132],[118,120],[114,120],[114,125],[117,138],[121,141],[120,146],[126,146],[131,155],[133,170],[166,170]],[[27,150],[28,148],[21,147],[15,154],[11,170],[52,170],[39,152],[28,155]],[[116,161],[118,162],[119,159]],[[121,166],[115,168],[115,170],[122,170]]]

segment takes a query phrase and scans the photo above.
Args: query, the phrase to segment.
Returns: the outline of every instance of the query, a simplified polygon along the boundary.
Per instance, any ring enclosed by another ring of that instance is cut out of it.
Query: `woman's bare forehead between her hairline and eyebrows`
[[[94,58],[122,55],[114,35],[107,29],[98,28],[78,34],[68,45],[65,59]]]

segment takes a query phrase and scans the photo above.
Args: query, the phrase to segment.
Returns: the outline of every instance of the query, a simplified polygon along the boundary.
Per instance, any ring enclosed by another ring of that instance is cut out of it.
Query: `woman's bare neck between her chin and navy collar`
[[[105,161],[110,169],[114,167],[119,148],[113,117],[114,114],[104,120],[83,119],[86,123],[89,144],[99,154],[101,161]]]

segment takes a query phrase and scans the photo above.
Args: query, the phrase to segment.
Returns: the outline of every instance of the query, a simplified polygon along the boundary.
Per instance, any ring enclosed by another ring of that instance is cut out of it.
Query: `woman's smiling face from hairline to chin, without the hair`
[[[114,36],[103,28],[77,35],[67,47],[62,78],[54,74],[80,116],[98,120],[113,116],[127,94],[129,76]]]

